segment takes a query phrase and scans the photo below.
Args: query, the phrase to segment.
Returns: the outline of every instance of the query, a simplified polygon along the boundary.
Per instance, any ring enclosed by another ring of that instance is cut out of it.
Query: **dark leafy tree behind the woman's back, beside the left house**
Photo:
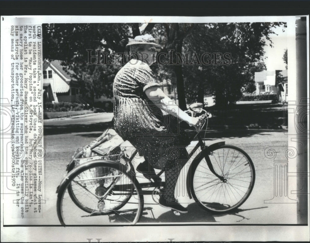
[[[128,37],[137,34],[139,24],[46,24],[43,28],[43,58],[62,60],[65,71],[73,70],[83,95],[90,101],[101,95],[110,98],[113,79],[121,65],[87,65],[87,50],[124,52]],[[96,52],[91,55],[95,56]],[[100,58],[105,58],[103,53]]]

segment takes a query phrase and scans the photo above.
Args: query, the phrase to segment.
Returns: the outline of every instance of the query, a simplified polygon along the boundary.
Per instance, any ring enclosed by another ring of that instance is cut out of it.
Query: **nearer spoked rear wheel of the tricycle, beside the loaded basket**
[[[92,161],[76,167],[66,178],[57,197],[60,223],[106,225],[139,221],[143,195],[135,177],[120,163]]]

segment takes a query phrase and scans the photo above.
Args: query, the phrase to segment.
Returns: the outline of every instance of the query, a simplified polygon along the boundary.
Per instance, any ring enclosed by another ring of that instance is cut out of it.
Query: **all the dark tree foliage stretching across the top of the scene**
[[[229,53],[229,65],[155,65],[158,79],[171,80],[177,86],[179,106],[186,101],[203,102],[206,93],[214,93],[217,105],[226,106],[241,97],[241,89],[253,89],[254,72],[265,69],[263,47],[272,45],[274,28],[285,23],[151,23],[151,24],[46,24],[43,28],[43,57],[63,61],[65,69],[76,73],[84,95],[89,99],[101,95],[112,97],[115,65],[87,65],[87,49],[103,52],[124,52],[128,38],[151,33],[162,52],[171,53],[176,60],[188,53],[189,59],[199,61],[203,53]],[[92,55],[96,55],[92,52]],[[120,57],[121,58],[121,57]],[[223,60],[223,56],[219,61]],[[95,59],[94,62],[95,63]]]

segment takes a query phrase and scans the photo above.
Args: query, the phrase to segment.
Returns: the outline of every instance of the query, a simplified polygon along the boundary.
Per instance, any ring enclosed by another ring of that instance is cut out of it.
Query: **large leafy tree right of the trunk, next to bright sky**
[[[201,93],[201,89],[208,87],[208,91],[215,93],[218,106],[225,107],[228,103],[236,102],[241,97],[241,88],[251,81],[250,77],[254,75],[255,63],[263,63],[263,47],[267,41],[272,46],[270,34],[274,33],[274,27],[281,25],[286,26],[285,23],[197,24],[191,35],[184,40],[184,46],[187,48],[185,52],[191,52],[192,55],[195,52],[198,56],[204,52],[214,55],[229,53],[231,63],[214,65],[214,59],[210,65],[201,65],[201,72],[196,72],[200,78],[196,76],[195,79],[190,79],[188,76],[185,78],[188,80],[186,85],[197,87],[197,92]],[[194,68],[188,66],[193,72]],[[203,86],[201,79],[205,80]],[[192,94],[188,93],[189,96]]]

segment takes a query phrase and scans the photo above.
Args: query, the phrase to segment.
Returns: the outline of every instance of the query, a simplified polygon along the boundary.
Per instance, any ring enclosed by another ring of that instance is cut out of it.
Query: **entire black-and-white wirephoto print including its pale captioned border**
[[[308,226],[308,16],[76,17],[10,27],[5,65],[21,74],[8,72],[1,105],[30,118],[2,127],[28,129],[3,140],[18,208],[3,225],[86,242],[92,227],[104,242],[147,241],[148,227],[240,240],[240,226],[294,240]]]

